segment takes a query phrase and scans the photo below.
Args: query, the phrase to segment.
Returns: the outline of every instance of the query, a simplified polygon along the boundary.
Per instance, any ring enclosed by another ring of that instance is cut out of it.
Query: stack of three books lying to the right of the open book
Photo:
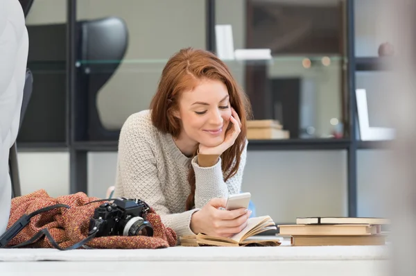
[[[291,236],[293,246],[385,245],[381,225],[387,218],[309,217],[295,225],[278,225],[279,236]]]

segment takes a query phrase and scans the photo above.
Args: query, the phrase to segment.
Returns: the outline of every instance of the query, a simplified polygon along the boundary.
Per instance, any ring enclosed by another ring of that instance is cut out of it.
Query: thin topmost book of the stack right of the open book
[[[390,224],[388,218],[349,218],[349,217],[329,217],[329,216],[311,216],[296,218],[296,224],[371,224],[385,225]]]

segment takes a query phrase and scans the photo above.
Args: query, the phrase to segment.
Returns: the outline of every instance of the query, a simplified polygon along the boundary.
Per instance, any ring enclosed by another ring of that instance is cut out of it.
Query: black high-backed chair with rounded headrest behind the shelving
[[[114,74],[128,48],[128,28],[119,17],[78,22],[76,141],[116,141],[119,131],[106,130],[98,117],[97,94]],[[85,121],[85,118],[88,118]]]

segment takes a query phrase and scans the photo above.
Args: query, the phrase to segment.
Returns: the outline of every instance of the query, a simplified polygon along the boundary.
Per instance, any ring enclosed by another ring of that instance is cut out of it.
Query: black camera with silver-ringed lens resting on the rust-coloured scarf
[[[116,198],[94,211],[89,233],[98,236],[153,236],[153,227],[146,221],[150,207],[142,200]]]

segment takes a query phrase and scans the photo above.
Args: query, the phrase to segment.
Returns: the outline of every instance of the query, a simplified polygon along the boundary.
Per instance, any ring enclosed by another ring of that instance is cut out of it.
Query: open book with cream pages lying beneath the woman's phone
[[[277,246],[280,241],[277,238],[254,236],[268,230],[276,230],[275,222],[270,216],[249,218],[248,225],[243,231],[229,238],[221,236],[208,236],[205,234],[180,236],[182,246]]]

